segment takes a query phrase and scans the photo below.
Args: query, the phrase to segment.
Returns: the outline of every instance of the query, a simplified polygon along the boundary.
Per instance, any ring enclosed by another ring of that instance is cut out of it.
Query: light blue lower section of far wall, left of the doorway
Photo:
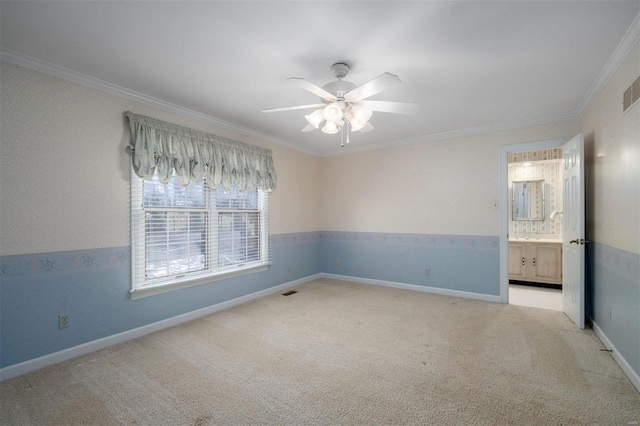
[[[320,239],[325,273],[500,295],[498,237],[321,232]]]

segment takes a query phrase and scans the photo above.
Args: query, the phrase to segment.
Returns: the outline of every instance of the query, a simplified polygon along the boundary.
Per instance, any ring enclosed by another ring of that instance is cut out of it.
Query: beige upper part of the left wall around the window
[[[133,111],[273,150],[270,232],[320,230],[320,159],[97,89],[0,62],[0,254],[129,241]]]

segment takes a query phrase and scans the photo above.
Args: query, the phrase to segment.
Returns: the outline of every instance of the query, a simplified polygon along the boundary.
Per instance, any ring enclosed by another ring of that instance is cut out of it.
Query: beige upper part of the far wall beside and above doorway
[[[560,122],[323,158],[322,230],[498,235],[499,147],[579,131]]]

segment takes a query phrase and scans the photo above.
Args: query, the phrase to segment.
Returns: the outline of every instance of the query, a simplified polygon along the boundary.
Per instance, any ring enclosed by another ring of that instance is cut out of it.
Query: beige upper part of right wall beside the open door
[[[640,42],[582,117],[587,157],[587,236],[640,254],[640,102],[622,94],[640,75]]]

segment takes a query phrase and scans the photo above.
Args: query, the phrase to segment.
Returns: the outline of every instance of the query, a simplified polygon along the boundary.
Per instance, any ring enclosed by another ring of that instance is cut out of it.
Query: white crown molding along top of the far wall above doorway
[[[438,141],[443,139],[452,139],[452,138],[457,138],[462,136],[479,135],[482,133],[490,133],[490,132],[499,132],[501,130],[508,130],[508,129],[518,129],[518,128],[536,126],[540,124],[558,123],[562,121],[577,121],[579,119],[580,119],[580,116],[578,116],[577,113],[570,112],[570,113],[556,114],[556,115],[550,115],[550,116],[540,117],[540,118],[532,118],[527,120],[518,120],[518,121],[510,121],[507,123],[492,124],[489,126],[471,127],[468,129],[433,133],[430,135],[418,136],[415,138],[382,142],[376,145],[369,145],[365,147],[358,147],[358,148],[349,147],[347,149],[340,148],[340,149],[329,151],[329,152],[323,152],[320,154],[320,156],[333,157],[336,155],[351,154],[351,153],[363,152],[363,151],[373,151],[377,149],[391,148],[395,146],[414,145],[418,143],[433,142],[433,141]]]

